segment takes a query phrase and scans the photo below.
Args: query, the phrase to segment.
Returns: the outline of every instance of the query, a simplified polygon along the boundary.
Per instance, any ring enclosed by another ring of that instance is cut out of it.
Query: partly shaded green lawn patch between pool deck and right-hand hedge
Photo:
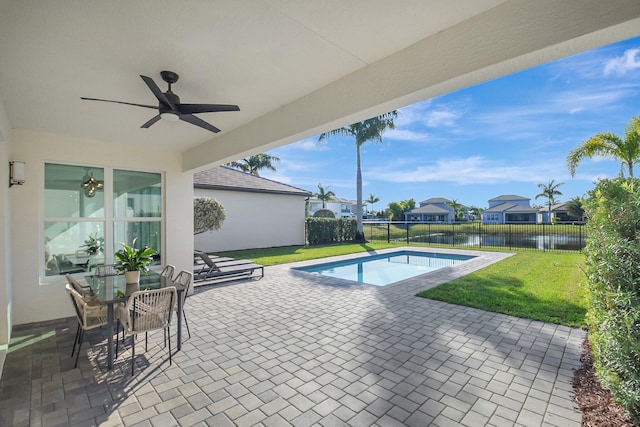
[[[584,255],[518,252],[418,296],[543,322],[585,327]]]

